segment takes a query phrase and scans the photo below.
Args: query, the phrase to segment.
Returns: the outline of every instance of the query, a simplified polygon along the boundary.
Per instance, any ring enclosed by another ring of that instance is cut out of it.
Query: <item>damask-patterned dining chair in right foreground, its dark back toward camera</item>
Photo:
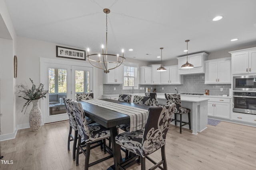
[[[116,136],[115,141],[117,149],[124,147],[130,152],[137,154],[136,157],[127,160],[128,162],[136,160],[140,156],[142,170],[146,169],[146,158],[155,164],[153,169],[158,167],[167,170],[165,156],[166,134],[175,107],[175,104],[150,107],[148,109],[148,120],[143,130],[124,132]],[[158,149],[161,149],[162,160],[155,162],[152,158],[149,158],[148,155]],[[117,155],[117,157],[120,158],[120,155]],[[120,161],[121,160],[118,159],[118,168],[124,169],[128,163]],[[163,167],[161,167],[162,164]]]

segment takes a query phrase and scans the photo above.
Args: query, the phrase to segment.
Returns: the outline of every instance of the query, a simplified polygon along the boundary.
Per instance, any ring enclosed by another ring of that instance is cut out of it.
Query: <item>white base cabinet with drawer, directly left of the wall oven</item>
[[[230,99],[209,98],[208,115],[230,119]]]

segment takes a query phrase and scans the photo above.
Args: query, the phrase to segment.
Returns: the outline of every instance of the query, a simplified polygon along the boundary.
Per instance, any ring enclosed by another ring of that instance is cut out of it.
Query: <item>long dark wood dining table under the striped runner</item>
[[[152,106],[134,104],[129,102],[121,102],[118,100],[111,100],[111,99],[100,99],[100,100],[111,102],[114,104],[121,104],[124,106],[136,107],[136,108],[145,109],[145,110],[148,110],[149,107],[152,107]],[[118,135],[118,129],[116,128],[116,126],[122,125],[122,124],[129,124],[130,116],[126,115],[125,113],[120,113],[118,111],[112,110],[111,105],[108,106],[109,108],[104,108],[83,100],[79,102],[82,104],[84,113],[87,117],[99,123],[100,125],[110,129],[110,139],[112,144],[114,167],[115,169],[117,169],[118,167],[117,164],[121,159],[117,155],[121,155],[120,154],[121,150],[116,149],[115,137]]]

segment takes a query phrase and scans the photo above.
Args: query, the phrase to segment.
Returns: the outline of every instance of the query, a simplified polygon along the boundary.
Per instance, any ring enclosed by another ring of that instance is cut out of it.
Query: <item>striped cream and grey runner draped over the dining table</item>
[[[146,109],[140,109],[137,107],[126,106],[123,104],[98,99],[82,101],[128,115],[130,117],[130,131],[136,131],[144,128],[146,121],[148,120],[148,110]]]

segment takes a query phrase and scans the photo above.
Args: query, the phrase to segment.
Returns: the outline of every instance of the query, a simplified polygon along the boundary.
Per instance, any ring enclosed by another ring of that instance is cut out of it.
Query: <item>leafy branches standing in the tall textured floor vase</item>
[[[24,104],[22,107],[21,112],[23,112],[24,108],[24,114],[26,113],[26,110],[28,108],[28,105],[32,100],[38,100],[38,99],[43,99],[46,98],[46,94],[48,93],[48,90],[44,90],[44,84],[40,83],[38,87],[34,84],[33,80],[29,78],[29,80],[32,82],[32,88],[28,88],[28,86],[25,86],[23,84],[17,85],[17,93],[18,97],[24,98],[27,100],[27,102]]]

